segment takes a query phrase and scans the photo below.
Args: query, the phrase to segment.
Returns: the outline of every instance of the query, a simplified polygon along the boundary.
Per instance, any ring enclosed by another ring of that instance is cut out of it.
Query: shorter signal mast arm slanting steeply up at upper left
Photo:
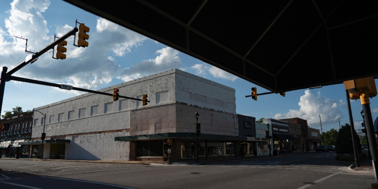
[[[35,54],[33,54],[31,59],[29,59],[27,61],[21,62],[21,64],[17,65],[15,68],[13,68],[9,72],[7,72],[6,77],[9,77],[12,74],[14,74],[15,72],[19,71],[21,68],[23,68],[24,66],[26,66],[27,64],[29,64],[30,62],[32,62],[34,59],[38,58],[43,53],[47,52],[50,49],[53,49],[54,46],[56,46],[57,44],[61,43],[62,41],[64,41],[68,37],[70,37],[71,35],[75,35],[76,32],[78,32],[78,31],[79,31],[78,28],[74,28],[71,31],[69,31],[68,33],[66,33],[65,35],[61,36],[56,41],[50,43],[49,45],[47,45],[46,47],[44,47],[42,50],[40,50],[40,51],[36,52]]]

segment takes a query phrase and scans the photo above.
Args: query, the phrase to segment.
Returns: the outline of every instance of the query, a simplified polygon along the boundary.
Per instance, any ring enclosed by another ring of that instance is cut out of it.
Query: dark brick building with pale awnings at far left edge
[[[10,128],[0,132],[0,157],[31,157],[30,146],[22,143],[31,140],[32,120],[33,112],[2,119],[2,122],[10,124]]]

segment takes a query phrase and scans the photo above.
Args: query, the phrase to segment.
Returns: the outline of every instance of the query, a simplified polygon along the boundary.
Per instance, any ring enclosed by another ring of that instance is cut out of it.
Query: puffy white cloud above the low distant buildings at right
[[[319,114],[322,117],[322,122],[336,121],[342,117],[342,112],[338,106],[342,106],[342,101],[335,101],[320,95],[318,97],[311,93],[310,90],[304,91],[304,95],[300,97],[298,105],[299,110],[289,109],[289,112],[276,114],[273,118],[291,118],[299,117],[306,119],[308,124],[319,123]],[[345,104],[345,103],[344,103]]]

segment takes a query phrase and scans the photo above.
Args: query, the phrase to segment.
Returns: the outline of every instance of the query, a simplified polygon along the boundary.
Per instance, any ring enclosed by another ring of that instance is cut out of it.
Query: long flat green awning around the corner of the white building
[[[161,133],[152,135],[136,135],[136,136],[125,136],[125,137],[115,137],[114,141],[139,141],[139,140],[152,140],[152,139],[165,139],[165,138],[181,138],[181,139],[196,139],[196,134],[194,133]],[[209,135],[201,134],[198,137],[200,141],[247,141],[246,137],[228,136],[228,135]]]

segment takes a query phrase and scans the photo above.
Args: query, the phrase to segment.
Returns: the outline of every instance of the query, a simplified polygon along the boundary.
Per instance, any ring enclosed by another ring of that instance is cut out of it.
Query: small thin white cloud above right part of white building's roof
[[[194,69],[196,71],[196,73],[198,75],[206,75],[208,73],[210,73],[214,78],[222,78],[222,79],[225,79],[225,80],[231,80],[231,81],[235,81],[238,77],[237,76],[234,76],[226,71],[223,71],[217,67],[214,67],[214,66],[211,66],[208,64],[196,64],[194,65],[193,67],[191,67],[192,69]]]

